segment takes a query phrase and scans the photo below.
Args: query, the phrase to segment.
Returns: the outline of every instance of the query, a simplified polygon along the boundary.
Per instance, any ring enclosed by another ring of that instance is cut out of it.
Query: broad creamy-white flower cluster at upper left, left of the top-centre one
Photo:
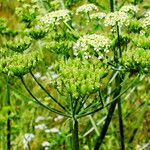
[[[39,22],[42,25],[59,25],[60,21],[68,22],[71,20],[71,12],[69,10],[57,10],[57,11],[52,11],[42,17],[39,18]]]

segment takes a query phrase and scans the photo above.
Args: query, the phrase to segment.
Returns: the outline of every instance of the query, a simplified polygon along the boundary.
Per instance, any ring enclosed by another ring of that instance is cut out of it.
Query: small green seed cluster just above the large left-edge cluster
[[[16,52],[23,52],[31,45],[31,38],[25,37],[15,37],[13,40],[6,42],[6,47],[16,51]]]

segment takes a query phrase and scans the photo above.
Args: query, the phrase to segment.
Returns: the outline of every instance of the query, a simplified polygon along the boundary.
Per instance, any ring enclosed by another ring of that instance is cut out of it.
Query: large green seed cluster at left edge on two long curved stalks
[[[10,57],[2,57],[0,59],[0,72],[11,76],[21,76],[34,68],[38,61],[41,60],[39,51],[32,51],[29,53],[14,53]]]

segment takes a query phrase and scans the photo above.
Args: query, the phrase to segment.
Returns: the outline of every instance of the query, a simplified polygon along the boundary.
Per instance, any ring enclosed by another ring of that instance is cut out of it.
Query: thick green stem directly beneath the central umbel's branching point
[[[78,121],[72,119],[72,149],[79,150]]]

